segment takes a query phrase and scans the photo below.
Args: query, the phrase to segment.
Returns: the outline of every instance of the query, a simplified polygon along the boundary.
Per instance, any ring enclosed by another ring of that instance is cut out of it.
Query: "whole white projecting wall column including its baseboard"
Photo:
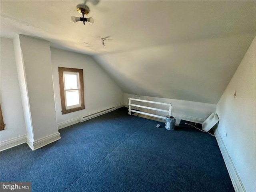
[[[60,139],[58,132],[50,43],[18,34],[14,53],[27,132],[32,150]]]

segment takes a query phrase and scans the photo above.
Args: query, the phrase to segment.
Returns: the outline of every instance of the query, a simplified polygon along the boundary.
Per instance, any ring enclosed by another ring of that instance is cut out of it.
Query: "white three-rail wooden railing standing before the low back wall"
[[[132,101],[165,105],[165,106],[169,106],[169,110],[164,110],[164,109],[154,108],[154,107],[148,107],[148,106],[141,105],[140,103],[139,104],[132,104]],[[132,108],[132,107],[136,107],[137,110],[134,110],[134,108]],[[150,109],[150,110],[155,110],[155,111],[166,112],[167,113],[166,115],[169,115],[169,116],[172,115],[172,104],[170,104],[170,103],[162,103],[162,102],[156,102],[156,101],[150,101],[150,100],[142,100],[142,99],[139,99],[139,98],[129,98],[129,115],[131,115],[132,112],[134,112],[134,113],[143,114],[143,115],[147,115],[147,116],[152,116],[152,117],[155,117],[155,118],[160,118],[160,119],[165,120],[165,116],[160,116],[160,115],[155,115],[155,114],[152,114],[152,113],[141,112],[140,110],[138,110],[138,108],[145,108],[145,109]]]

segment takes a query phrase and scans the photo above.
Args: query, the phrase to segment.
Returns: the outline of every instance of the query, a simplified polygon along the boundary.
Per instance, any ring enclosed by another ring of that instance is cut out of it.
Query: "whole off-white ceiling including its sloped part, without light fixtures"
[[[70,21],[80,3],[94,24]],[[256,1],[1,1],[0,9],[2,37],[90,54],[125,93],[213,104],[256,34]]]

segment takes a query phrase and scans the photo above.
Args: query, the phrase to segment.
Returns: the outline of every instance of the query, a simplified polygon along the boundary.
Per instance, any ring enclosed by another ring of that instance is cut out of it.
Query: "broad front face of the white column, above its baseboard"
[[[32,141],[36,141],[58,133],[50,43],[24,35],[18,35],[18,38],[22,50],[30,116],[34,133]],[[15,45],[17,46],[17,44]],[[20,63],[17,65],[20,65]]]

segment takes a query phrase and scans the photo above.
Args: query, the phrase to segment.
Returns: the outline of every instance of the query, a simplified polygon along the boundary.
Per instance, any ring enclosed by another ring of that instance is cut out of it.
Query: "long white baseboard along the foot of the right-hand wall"
[[[220,133],[218,132],[218,129],[214,130],[214,133],[215,133],[215,137],[216,137],[216,140],[217,140],[219,148],[220,148],[220,152],[223,156],[224,162],[228,169],[230,179],[234,186],[234,190],[236,192],[246,192],[244,185],[242,184],[242,181],[241,181],[241,179],[236,171],[236,168],[232,162],[232,159],[230,158],[228,151],[224,145],[224,142],[222,141],[222,138],[220,136]]]

